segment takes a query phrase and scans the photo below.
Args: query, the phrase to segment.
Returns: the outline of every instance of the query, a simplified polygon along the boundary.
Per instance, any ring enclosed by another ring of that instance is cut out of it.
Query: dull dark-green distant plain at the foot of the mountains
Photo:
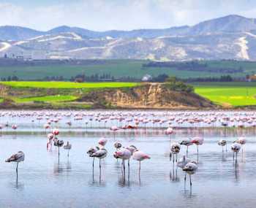
[[[157,77],[159,74],[167,74],[179,78],[195,78],[195,77],[221,77],[227,73],[220,72],[198,72],[179,70],[170,67],[143,67],[145,60],[107,60],[105,63],[94,63],[85,66],[0,66],[0,77],[17,76],[20,80],[42,80],[45,77],[62,76],[64,80],[69,80],[78,74],[91,76],[93,74],[110,74],[115,78],[133,77],[141,79],[145,74],[151,74]],[[239,69],[243,68],[244,72],[231,73],[232,77],[245,77],[246,74],[256,73],[256,62],[251,61],[200,61],[207,63],[208,67],[217,67],[218,69]]]

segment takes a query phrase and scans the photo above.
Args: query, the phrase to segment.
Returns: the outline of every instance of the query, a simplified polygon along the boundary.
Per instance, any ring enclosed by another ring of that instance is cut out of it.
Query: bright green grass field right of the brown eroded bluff
[[[256,105],[255,82],[199,82],[194,87],[195,93],[222,106]]]

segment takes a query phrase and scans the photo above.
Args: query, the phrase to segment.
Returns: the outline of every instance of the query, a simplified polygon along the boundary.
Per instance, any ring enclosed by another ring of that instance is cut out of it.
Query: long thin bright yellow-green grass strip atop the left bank
[[[14,88],[129,88],[139,85],[135,82],[0,82]]]

